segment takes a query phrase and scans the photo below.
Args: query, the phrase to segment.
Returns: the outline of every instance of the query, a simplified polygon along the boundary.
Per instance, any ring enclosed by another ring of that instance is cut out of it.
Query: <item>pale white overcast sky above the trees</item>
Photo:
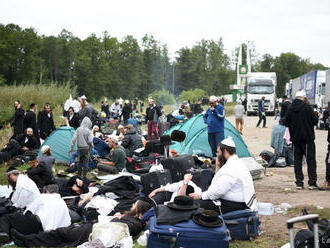
[[[171,56],[202,38],[222,37],[229,55],[251,40],[259,54],[294,52],[330,67],[330,0],[3,0],[0,23],[80,38],[148,33]]]

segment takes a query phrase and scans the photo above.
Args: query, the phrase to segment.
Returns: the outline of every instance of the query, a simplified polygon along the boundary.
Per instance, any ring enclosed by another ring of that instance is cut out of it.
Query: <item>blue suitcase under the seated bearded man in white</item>
[[[260,220],[257,212],[237,210],[222,215],[232,240],[253,240],[259,236]]]

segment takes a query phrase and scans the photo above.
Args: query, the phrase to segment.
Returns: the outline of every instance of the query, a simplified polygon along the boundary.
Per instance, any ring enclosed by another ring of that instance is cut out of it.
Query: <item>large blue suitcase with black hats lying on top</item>
[[[156,216],[150,219],[147,248],[227,248],[229,239],[226,225],[208,228],[192,220],[174,226],[157,225]]]

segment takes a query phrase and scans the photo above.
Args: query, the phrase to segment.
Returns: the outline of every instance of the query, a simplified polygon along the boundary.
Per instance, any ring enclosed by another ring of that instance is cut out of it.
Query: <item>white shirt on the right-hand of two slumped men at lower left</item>
[[[41,194],[41,202],[34,214],[39,217],[44,231],[71,225],[69,209],[59,194]]]

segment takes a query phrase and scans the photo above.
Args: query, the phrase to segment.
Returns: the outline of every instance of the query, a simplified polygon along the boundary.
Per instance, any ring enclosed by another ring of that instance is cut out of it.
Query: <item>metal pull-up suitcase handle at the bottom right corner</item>
[[[295,223],[305,222],[307,220],[311,220],[314,224],[314,248],[319,248],[319,215],[318,214],[308,214],[303,216],[298,216],[295,218],[289,219],[286,224],[289,229],[290,235],[290,248],[294,248],[294,230],[293,226]]]

